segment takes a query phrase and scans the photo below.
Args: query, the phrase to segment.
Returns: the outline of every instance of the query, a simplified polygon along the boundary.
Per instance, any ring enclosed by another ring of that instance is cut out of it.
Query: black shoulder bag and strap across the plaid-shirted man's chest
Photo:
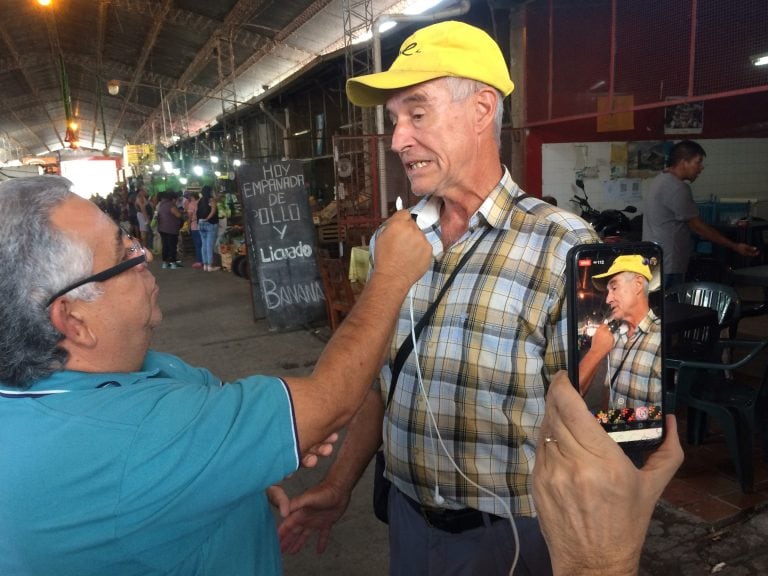
[[[522,199],[526,195],[521,195],[518,198]],[[440,289],[440,292],[437,295],[437,298],[435,298],[435,301],[432,302],[432,304],[429,305],[429,308],[427,308],[427,311],[424,312],[424,316],[421,317],[419,322],[414,327],[413,331],[415,333],[416,338],[419,337],[421,334],[421,331],[424,329],[424,326],[427,325],[427,323],[432,318],[432,315],[435,313],[435,309],[437,308],[438,302],[440,302],[440,299],[443,297],[443,295],[448,291],[448,287],[451,285],[451,282],[453,282],[453,279],[456,277],[456,274],[458,274],[459,270],[462,266],[466,263],[467,260],[469,260],[469,257],[472,255],[472,252],[475,251],[475,248],[477,248],[477,245],[480,244],[483,238],[485,238],[485,235],[488,234],[493,228],[490,226],[483,231],[480,238],[477,239],[477,242],[475,242],[469,250],[467,250],[466,254],[459,260],[459,263],[456,265],[456,268],[453,269],[453,272],[451,272],[451,275],[448,277],[448,279],[445,281],[445,284],[443,284],[443,287]],[[389,385],[389,395],[387,397],[387,404],[384,406],[384,412],[386,413],[387,408],[389,408],[389,403],[392,402],[392,396],[395,394],[395,386],[397,386],[397,378],[400,376],[400,370],[403,368],[403,364],[405,364],[405,359],[410,355],[411,351],[413,350],[413,344],[414,340],[416,338],[413,338],[411,336],[408,336],[405,340],[403,340],[403,343],[400,345],[400,348],[397,351],[397,354],[395,355],[395,362],[392,366],[392,383]],[[384,416],[386,418],[386,415]],[[384,469],[387,466],[386,461],[384,460],[384,451],[379,450],[376,452],[376,462],[374,466],[374,472],[373,472],[373,513],[376,515],[376,518],[384,522],[384,524],[389,524],[389,514],[388,514],[388,507],[389,507],[389,489],[392,486],[392,482],[387,480],[384,477]]]

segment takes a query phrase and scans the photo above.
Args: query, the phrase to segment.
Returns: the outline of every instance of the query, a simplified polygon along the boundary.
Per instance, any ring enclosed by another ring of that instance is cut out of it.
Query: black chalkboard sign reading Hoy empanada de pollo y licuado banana
[[[300,162],[240,166],[255,315],[270,328],[293,330],[325,318],[325,296],[315,256],[315,227]]]

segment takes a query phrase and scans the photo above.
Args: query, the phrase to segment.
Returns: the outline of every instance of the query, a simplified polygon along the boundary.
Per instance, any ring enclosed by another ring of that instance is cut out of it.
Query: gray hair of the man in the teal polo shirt
[[[51,212],[72,193],[59,176],[16,178],[0,183],[0,383],[29,387],[63,368],[62,335],[50,320],[48,298],[93,270],[84,243],[54,228]],[[93,300],[86,284],[68,295]]]

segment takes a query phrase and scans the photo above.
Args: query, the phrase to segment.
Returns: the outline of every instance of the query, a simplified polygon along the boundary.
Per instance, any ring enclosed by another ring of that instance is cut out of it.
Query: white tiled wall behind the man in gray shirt
[[[695,139],[704,147],[707,157],[704,172],[692,184],[697,201],[713,196],[750,200],[752,216],[768,219],[768,138]],[[554,196],[558,205],[576,207],[570,202],[574,194],[576,171],[587,167],[584,185],[589,201],[598,210],[623,208],[631,203],[640,209],[639,198],[632,194],[611,195],[611,142],[544,144],[542,146],[542,195]],[[650,178],[640,181],[641,192]]]

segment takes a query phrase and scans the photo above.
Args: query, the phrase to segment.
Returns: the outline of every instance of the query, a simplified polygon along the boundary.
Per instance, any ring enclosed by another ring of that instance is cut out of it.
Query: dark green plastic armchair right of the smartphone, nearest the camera
[[[736,476],[743,492],[754,490],[754,439],[760,433],[763,441],[763,458],[768,461],[766,441],[766,399],[768,399],[768,366],[760,353],[768,346],[768,340],[719,340],[716,350],[725,349],[740,360],[728,363],[702,362],[698,360],[667,359],[666,366],[677,371],[674,387],[674,403],[711,417],[723,431],[728,452],[736,469]],[[717,356],[722,357],[721,355]],[[762,361],[762,377],[757,386],[744,381],[743,374],[736,372],[752,361]],[[729,377],[731,376],[732,377]],[[690,410],[689,410],[690,413]],[[688,423],[688,441],[703,441],[704,431],[699,420]]]

